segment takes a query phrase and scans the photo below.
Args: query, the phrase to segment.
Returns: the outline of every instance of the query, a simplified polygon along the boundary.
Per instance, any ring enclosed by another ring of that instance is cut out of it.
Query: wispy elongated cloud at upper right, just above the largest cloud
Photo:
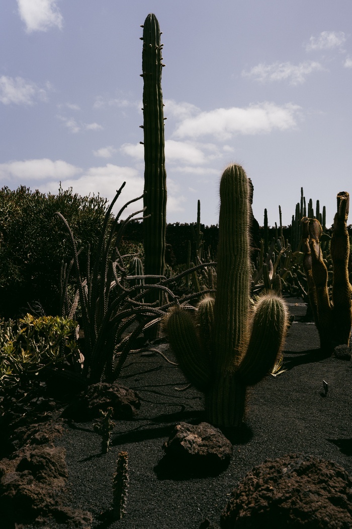
[[[306,61],[299,65],[290,62],[274,62],[271,65],[260,63],[250,71],[242,71],[243,77],[252,77],[256,81],[282,81],[289,80],[291,85],[299,85],[305,82],[306,76],[313,71],[324,70],[319,62]]]

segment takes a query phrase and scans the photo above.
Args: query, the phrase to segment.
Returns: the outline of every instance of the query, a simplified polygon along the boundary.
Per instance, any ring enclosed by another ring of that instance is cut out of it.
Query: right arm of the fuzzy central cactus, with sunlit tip
[[[256,305],[251,339],[237,375],[243,384],[257,384],[274,366],[286,337],[288,311],[283,299],[274,294],[261,296]]]

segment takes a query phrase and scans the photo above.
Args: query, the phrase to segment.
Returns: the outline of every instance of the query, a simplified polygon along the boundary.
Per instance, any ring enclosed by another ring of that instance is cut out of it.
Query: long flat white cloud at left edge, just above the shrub
[[[63,179],[78,175],[82,169],[71,165],[63,160],[50,160],[42,158],[38,160],[12,161],[0,163],[0,178],[19,180],[44,180]]]

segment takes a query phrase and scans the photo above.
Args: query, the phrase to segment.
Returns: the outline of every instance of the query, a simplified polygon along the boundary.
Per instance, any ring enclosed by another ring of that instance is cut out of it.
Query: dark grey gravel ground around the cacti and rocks
[[[182,373],[160,355],[130,355],[121,384],[138,391],[141,408],[133,421],[115,425],[112,447],[101,453],[92,423],[65,427],[56,445],[66,449],[69,469],[66,504],[88,510],[92,527],[196,529],[205,518],[219,523],[236,484],[267,458],[299,452],[335,461],[352,475],[350,361],[321,358],[315,325],[304,321],[306,306],[289,299],[296,320],[284,348],[285,372],[267,376],[249,391],[246,424],[233,439],[229,467],[217,477],[168,479],[157,465],[163,443],[180,422],[201,422],[203,398],[183,388]],[[162,346],[173,360],[168,346]],[[328,383],[325,394],[323,380]],[[120,451],[129,454],[129,492],[120,521],[100,521],[112,501],[112,476]],[[48,522],[45,527],[62,528]]]

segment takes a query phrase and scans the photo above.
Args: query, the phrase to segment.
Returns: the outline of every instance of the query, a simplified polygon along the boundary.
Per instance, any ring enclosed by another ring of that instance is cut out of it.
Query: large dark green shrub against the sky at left
[[[28,303],[39,301],[46,314],[59,314],[61,262],[72,258],[72,249],[57,217],[62,213],[73,227],[81,248],[97,247],[107,211],[107,199],[73,194],[57,195],[0,189],[0,315],[19,317]],[[82,252],[84,259],[86,252]]]

